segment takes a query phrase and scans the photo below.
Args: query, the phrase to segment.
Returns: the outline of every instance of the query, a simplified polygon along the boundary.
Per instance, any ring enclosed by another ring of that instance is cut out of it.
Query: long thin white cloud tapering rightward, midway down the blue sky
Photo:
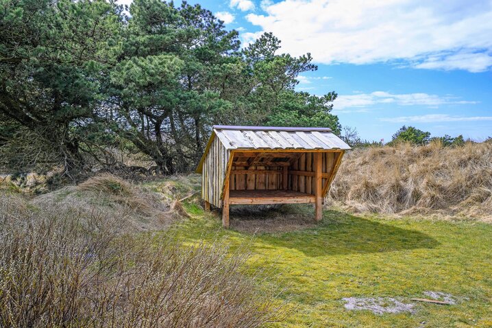
[[[429,106],[437,107],[445,104],[477,104],[477,102],[460,100],[452,96],[441,97],[428,93],[394,94],[385,91],[360,93],[356,95],[339,95],[334,101],[334,110],[346,108],[362,108],[376,104],[395,104],[397,106]]]

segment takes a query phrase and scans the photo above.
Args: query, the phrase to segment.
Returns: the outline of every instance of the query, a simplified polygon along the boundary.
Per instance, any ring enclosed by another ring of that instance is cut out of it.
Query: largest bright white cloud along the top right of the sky
[[[317,62],[492,68],[490,0],[282,0],[263,9],[247,20],[278,36],[284,51],[311,52]]]

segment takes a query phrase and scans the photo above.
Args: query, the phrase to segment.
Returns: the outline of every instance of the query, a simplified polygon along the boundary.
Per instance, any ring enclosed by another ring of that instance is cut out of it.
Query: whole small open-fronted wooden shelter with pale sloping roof
[[[213,126],[197,167],[201,196],[207,210],[222,208],[225,227],[233,204],[314,203],[319,221],[349,149],[329,128]]]

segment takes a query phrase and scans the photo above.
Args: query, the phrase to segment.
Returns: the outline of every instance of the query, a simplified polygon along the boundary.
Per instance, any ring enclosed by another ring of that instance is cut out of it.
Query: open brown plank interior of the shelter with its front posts
[[[232,204],[314,203],[315,219],[321,220],[323,198],[342,156],[343,150],[233,151],[221,195],[223,225],[229,226]]]

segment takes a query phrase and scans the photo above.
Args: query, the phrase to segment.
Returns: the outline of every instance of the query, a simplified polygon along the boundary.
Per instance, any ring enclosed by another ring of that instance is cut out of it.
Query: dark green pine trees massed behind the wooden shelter
[[[282,54],[269,33],[241,48],[201,5],[135,0],[130,15],[103,0],[0,6],[0,152],[51,150],[1,165],[75,175],[123,147],[171,174],[195,167],[213,124],[341,130],[336,93],[295,91],[299,73],[317,69],[310,54]]]

